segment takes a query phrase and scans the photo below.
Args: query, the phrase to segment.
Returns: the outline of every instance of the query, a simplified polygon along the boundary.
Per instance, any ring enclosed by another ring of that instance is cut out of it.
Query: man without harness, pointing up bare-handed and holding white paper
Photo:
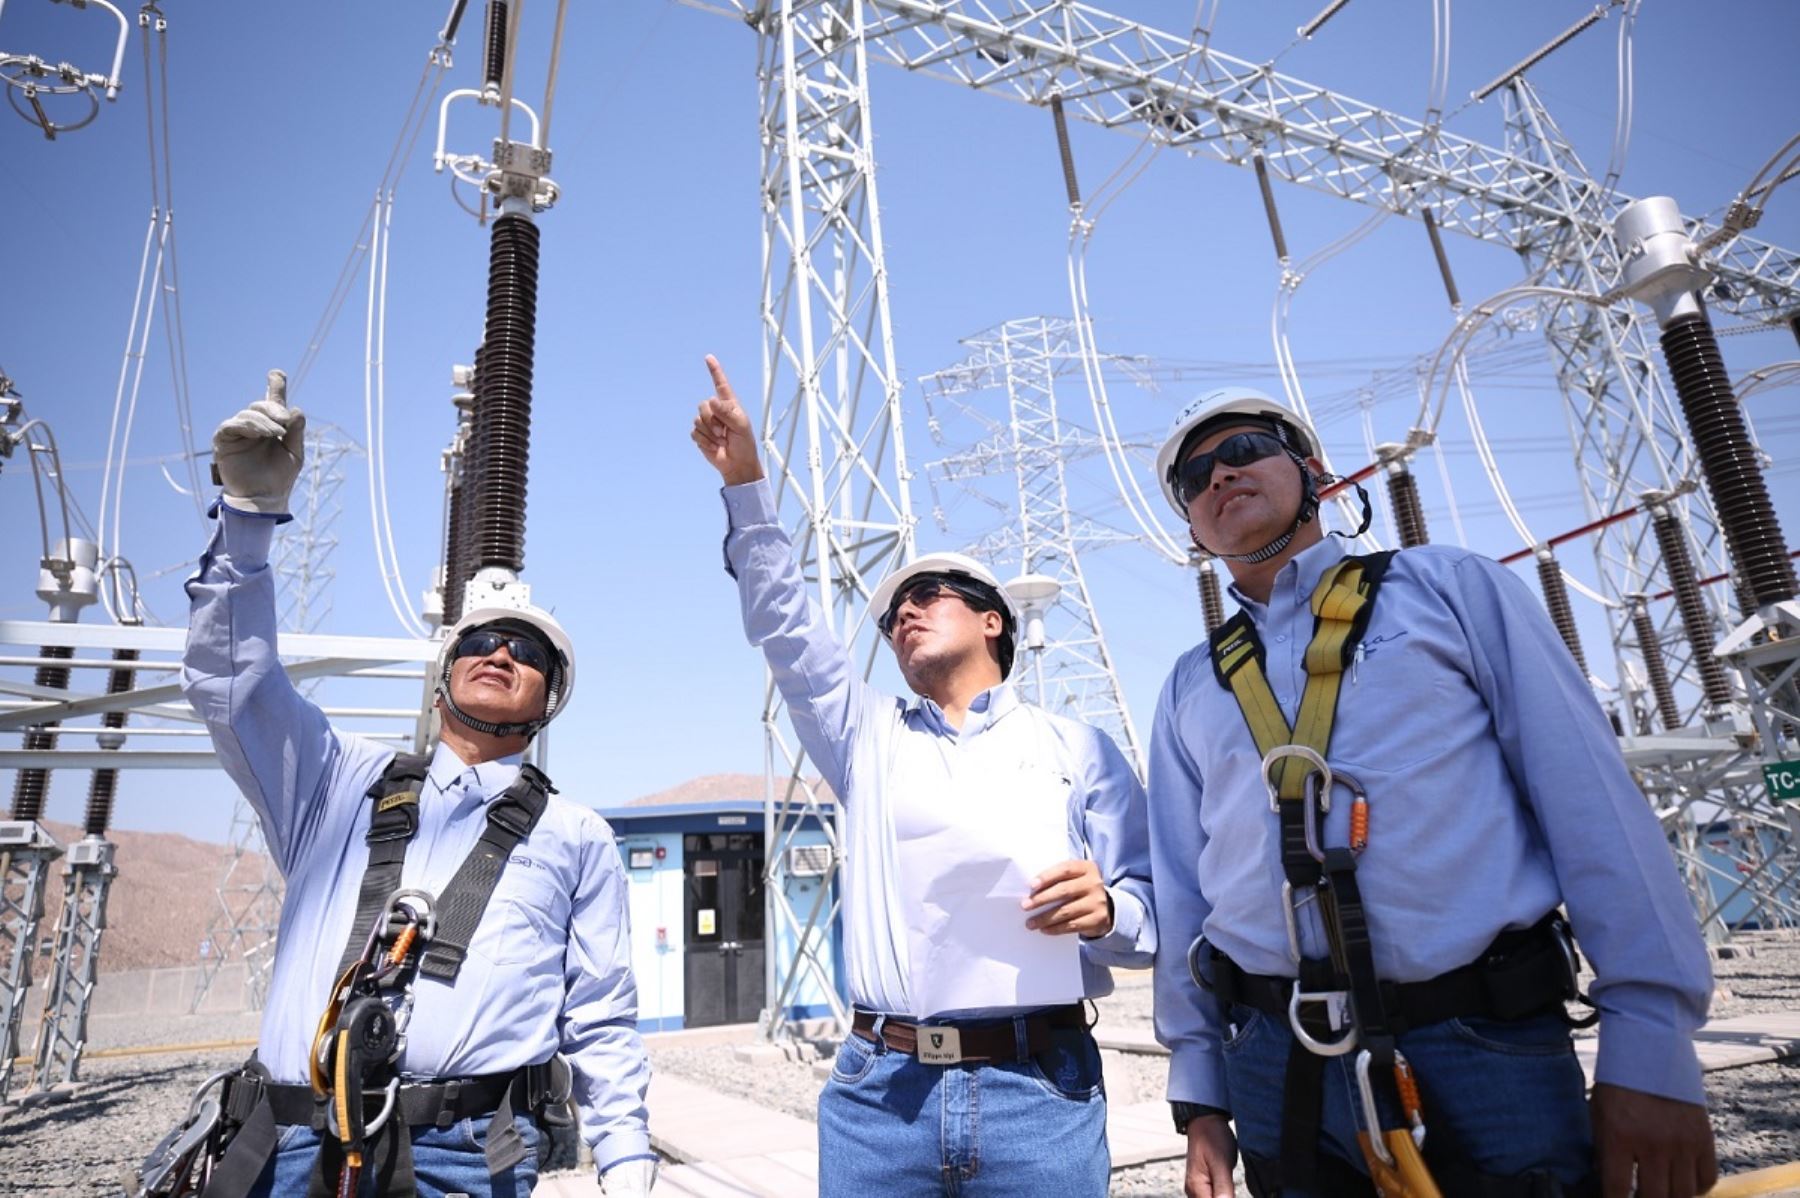
[[[862,680],[812,604],[749,416],[707,358],[693,441],[725,482],[727,570],[844,806],[844,984],[819,1193],[1091,1198],[1105,1094],[1084,1000],[1156,950],[1143,790],[1100,730],[1006,682],[1019,612],[961,554],[869,601],[911,698]]]

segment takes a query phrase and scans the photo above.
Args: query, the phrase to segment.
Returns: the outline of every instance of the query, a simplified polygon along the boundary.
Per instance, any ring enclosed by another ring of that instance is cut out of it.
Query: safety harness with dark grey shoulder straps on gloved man
[[[400,754],[369,788],[369,863],[313,1040],[310,1085],[275,1083],[256,1056],[214,1074],[194,1094],[187,1119],[144,1160],[139,1194],[243,1198],[275,1153],[279,1124],[322,1133],[310,1198],[356,1194],[365,1173],[376,1178],[378,1194],[414,1194],[416,1126],[448,1128],[491,1112],[486,1160],[490,1175],[499,1175],[529,1151],[513,1124],[515,1108],[567,1124],[571,1074],[562,1058],[513,1074],[430,1083],[401,1083],[396,1072],[418,975],[455,982],[508,858],[554,793],[540,770],[520,766],[518,779],[488,804],[481,840],[432,899],[400,885],[428,768],[428,755]]]

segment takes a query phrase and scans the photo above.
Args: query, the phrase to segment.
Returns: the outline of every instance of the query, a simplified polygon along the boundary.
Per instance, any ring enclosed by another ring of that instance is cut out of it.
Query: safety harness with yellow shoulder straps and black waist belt
[[[1438,1184],[1422,1155],[1426,1122],[1418,1081],[1399,1050],[1399,1033],[1463,1015],[1523,1018],[1546,1009],[1561,1011],[1562,1000],[1577,997],[1573,941],[1553,914],[1528,932],[1503,934],[1480,961],[1431,982],[1393,986],[1375,973],[1368,914],[1355,876],[1357,856],[1370,836],[1368,793],[1354,777],[1332,770],[1327,757],[1343,675],[1368,630],[1391,559],[1393,550],[1346,556],[1314,588],[1307,684],[1292,727],[1269,687],[1267,657],[1249,615],[1238,612],[1211,637],[1219,684],[1237,698],[1262,754],[1264,784],[1280,826],[1282,914],[1296,975],[1244,973],[1204,937],[1193,943],[1190,966],[1195,980],[1211,989],[1228,1013],[1229,1004],[1240,1002],[1285,1016],[1305,1049],[1287,1058],[1280,1180],[1271,1185],[1267,1178],[1253,1178],[1262,1180],[1267,1191],[1280,1185],[1319,1193],[1321,1180],[1332,1180],[1321,1176],[1318,1148],[1325,1063],[1354,1052],[1361,1112],[1357,1139],[1377,1193],[1384,1198],[1438,1198]],[[1327,845],[1323,817],[1330,813],[1337,790],[1346,791],[1352,802],[1350,838],[1345,845]],[[1301,952],[1300,908],[1310,901],[1318,901],[1327,957]],[[1388,1101],[1377,1101],[1377,1094]],[[1386,1117],[1388,1110],[1400,1112],[1400,1121]],[[1440,1153],[1433,1153],[1435,1164],[1438,1158]],[[1258,1169],[1269,1169],[1267,1162],[1258,1162]],[[1469,1171],[1458,1166],[1454,1173],[1454,1193],[1474,1193],[1462,1184]],[[1535,1193],[1505,1187],[1501,1178],[1481,1182],[1481,1193]],[[1503,1187],[1492,1189],[1487,1182],[1501,1182]],[[1332,1180],[1332,1185],[1337,1182]]]

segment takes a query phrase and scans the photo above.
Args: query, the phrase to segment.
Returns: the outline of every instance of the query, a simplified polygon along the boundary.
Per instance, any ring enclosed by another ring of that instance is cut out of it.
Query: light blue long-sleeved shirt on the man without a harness
[[[895,826],[959,773],[1048,784],[1069,813],[1071,853],[1085,845],[1112,896],[1112,932],[1082,941],[1089,998],[1112,993],[1107,966],[1145,968],[1156,953],[1150,845],[1138,775],[1112,739],[1019,700],[983,691],[954,729],[929,698],[871,687],[806,595],[769,482],[724,487],[725,568],[738,581],[743,630],[761,648],[801,745],[844,802],[844,970],[850,1000],[909,1018],[976,1018],[1021,1007],[922,1011],[909,968],[909,910]],[[1021,923],[1026,914],[1019,914]]]

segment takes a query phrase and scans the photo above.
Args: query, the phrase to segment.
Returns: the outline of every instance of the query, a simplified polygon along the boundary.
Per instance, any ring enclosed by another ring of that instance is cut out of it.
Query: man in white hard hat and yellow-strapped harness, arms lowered
[[[1238,1149],[1258,1196],[1706,1191],[1706,952],[1534,595],[1462,549],[1330,540],[1318,434],[1260,392],[1190,403],[1157,475],[1238,604],[1150,741],[1186,1193],[1233,1193]]]

